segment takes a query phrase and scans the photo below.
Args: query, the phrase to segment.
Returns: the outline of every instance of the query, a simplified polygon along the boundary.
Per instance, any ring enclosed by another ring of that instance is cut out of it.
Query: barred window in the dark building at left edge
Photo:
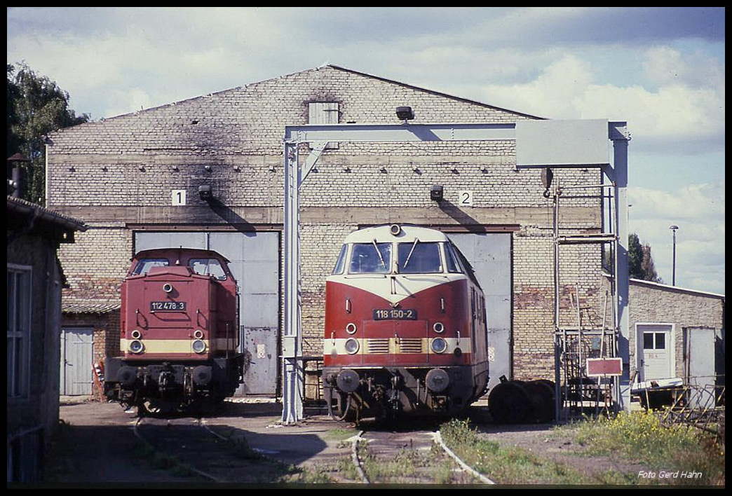
[[[7,397],[28,395],[31,268],[7,266]]]

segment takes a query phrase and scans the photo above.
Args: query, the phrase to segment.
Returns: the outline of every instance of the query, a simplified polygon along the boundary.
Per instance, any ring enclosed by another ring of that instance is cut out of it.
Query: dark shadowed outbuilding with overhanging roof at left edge
[[[59,245],[78,219],[7,197],[7,481],[40,479],[59,424],[59,338],[64,274]]]

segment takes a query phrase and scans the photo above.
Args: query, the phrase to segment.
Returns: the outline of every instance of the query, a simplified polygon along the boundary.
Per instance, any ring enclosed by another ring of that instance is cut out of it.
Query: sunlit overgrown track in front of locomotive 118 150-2
[[[365,484],[493,484],[431,429],[361,431],[352,438],[351,459]]]

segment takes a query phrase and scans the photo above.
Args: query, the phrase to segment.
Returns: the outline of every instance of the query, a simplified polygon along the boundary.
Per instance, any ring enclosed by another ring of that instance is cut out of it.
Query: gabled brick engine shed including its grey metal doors
[[[328,65],[53,133],[47,205],[88,226],[59,255],[70,287],[64,329],[91,335],[94,361],[119,353],[119,288],[132,255],[214,249],[232,262],[242,345],[258,357],[239,394],[275,396],[285,124],[397,124],[401,105],[414,109],[415,124],[540,119]],[[556,170],[555,181],[598,184],[602,173]],[[430,200],[436,184],[444,187],[441,203]],[[203,185],[214,200],[199,198]],[[343,238],[409,223],[448,233],[476,268],[487,298],[491,384],[500,375],[553,379],[553,217],[544,189],[539,170],[516,167],[514,140],[329,143],[301,190],[304,353],[322,353],[325,277]],[[602,232],[597,189],[564,200],[559,224],[562,233]],[[595,326],[601,251],[577,245],[560,259],[563,309],[578,290],[583,319]]]

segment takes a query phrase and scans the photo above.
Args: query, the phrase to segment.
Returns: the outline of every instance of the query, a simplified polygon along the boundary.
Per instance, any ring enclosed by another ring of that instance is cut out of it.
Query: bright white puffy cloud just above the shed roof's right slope
[[[657,60],[661,48],[651,50]],[[553,61],[534,80],[518,84],[488,84],[482,101],[551,119],[610,119],[628,122],[637,149],[666,147],[687,153],[690,143],[723,149],[725,86],[690,86],[695,66],[676,60],[682,76],[670,78],[665,69],[647,69],[657,81],[668,83],[655,91],[643,86],[597,84],[591,64],[578,56]],[[717,70],[707,71],[719,79]],[[660,75],[659,75],[660,74]]]

